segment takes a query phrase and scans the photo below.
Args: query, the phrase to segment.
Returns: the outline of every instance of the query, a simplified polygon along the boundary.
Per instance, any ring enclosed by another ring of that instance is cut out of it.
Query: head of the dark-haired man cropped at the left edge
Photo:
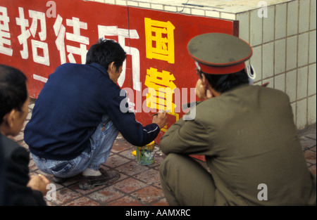
[[[20,70],[0,65],[0,132],[16,136],[28,114],[27,77]]]

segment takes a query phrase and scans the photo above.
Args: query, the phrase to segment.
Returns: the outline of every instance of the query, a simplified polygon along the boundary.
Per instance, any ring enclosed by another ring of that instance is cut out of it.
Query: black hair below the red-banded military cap
[[[249,77],[245,70],[225,75],[203,74],[205,75],[211,87],[220,93],[229,91],[230,89],[242,84],[249,84]]]

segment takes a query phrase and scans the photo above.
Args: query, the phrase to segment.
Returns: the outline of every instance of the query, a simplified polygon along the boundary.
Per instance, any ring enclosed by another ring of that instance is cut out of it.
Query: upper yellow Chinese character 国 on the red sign
[[[150,18],[144,18],[144,24],[147,58],[175,63],[174,25],[169,21],[162,22]]]

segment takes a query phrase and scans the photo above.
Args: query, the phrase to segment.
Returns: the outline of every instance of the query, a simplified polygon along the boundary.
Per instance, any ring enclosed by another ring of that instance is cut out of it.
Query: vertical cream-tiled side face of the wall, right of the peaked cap
[[[316,123],[316,1],[269,6],[268,18],[257,17],[256,11],[236,17],[244,25],[243,39],[248,39],[249,29],[249,43],[254,46],[251,64],[259,72],[256,82],[270,82],[290,96],[299,129]]]

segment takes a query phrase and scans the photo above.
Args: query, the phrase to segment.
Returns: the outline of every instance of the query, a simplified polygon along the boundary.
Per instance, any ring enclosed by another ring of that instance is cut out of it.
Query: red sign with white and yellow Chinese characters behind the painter
[[[159,137],[185,114],[182,104],[196,101],[187,43],[207,32],[237,36],[237,22],[92,1],[0,0],[0,63],[25,72],[32,98],[56,67],[85,64],[92,44],[114,39],[128,54],[118,84],[137,120],[169,112]]]

